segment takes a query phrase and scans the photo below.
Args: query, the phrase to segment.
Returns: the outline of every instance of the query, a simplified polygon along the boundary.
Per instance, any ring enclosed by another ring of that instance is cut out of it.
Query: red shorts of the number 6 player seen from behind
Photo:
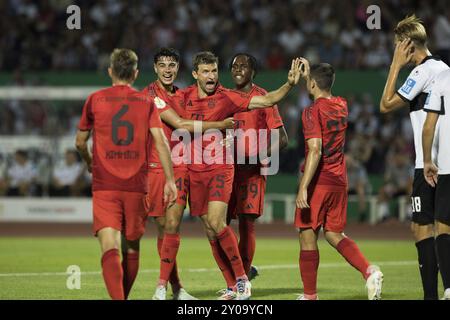
[[[145,232],[147,214],[144,209],[144,193],[127,191],[94,191],[93,232],[113,228],[122,232],[127,240],[138,240]]]

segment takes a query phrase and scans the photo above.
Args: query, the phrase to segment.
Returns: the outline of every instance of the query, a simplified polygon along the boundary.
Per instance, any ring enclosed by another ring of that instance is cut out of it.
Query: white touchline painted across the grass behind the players
[[[385,267],[400,267],[400,266],[412,266],[416,265],[416,260],[405,261],[373,261],[372,264]],[[349,264],[345,262],[340,263],[322,263],[319,265],[319,269],[322,268],[342,268],[348,267]],[[273,269],[297,269],[298,264],[275,264],[275,265],[258,265],[260,270],[273,270]],[[179,269],[180,272],[215,272],[218,268],[194,268],[194,269]],[[139,270],[140,273],[156,273],[159,269],[143,269]],[[101,271],[87,271],[81,272],[81,276],[100,275]],[[67,276],[66,272],[34,272],[34,273],[0,273],[0,277],[42,277],[42,276]]]

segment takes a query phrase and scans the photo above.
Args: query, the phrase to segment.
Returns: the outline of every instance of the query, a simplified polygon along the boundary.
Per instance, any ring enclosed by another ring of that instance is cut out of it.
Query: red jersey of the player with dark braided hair
[[[267,91],[257,85],[253,85],[248,93],[250,97],[264,96]],[[278,106],[264,109],[253,109],[234,115],[235,129],[242,129],[246,136],[242,136],[235,141],[236,153],[244,154],[246,157],[258,155],[258,150],[267,149],[267,141],[261,141],[259,144],[260,129],[267,130],[267,139],[270,139],[270,130],[283,126],[283,120],[278,112]],[[249,134],[249,131],[255,130],[255,134]],[[247,138],[248,137],[248,138]],[[255,138],[256,137],[256,138]],[[246,140],[246,141],[245,141]]]

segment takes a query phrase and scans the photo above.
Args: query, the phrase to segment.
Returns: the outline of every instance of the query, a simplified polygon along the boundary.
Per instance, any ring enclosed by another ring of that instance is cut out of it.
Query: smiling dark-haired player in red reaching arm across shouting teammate
[[[194,132],[196,120],[183,119],[184,103],[182,97],[177,95],[178,88],[174,81],[178,74],[180,56],[172,48],[159,49],[154,57],[154,71],[157,80],[152,82],[142,91],[155,102],[156,110],[162,120],[164,133],[173,150],[173,170],[178,197],[175,205],[166,208],[163,202],[165,177],[161,169],[158,155],[155,153],[155,145],[150,143],[150,159],[148,171],[149,192],[146,197],[147,211],[150,217],[154,217],[158,227],[158,253],[161,258],[160,276],[156,287],[154,300],[166,300],[167,282],[170,282],[174,300],[193,300],[183,288],[176,263],[176,255],[180,245],[179,229],[188,196],[189,177],[187,165],[183,159],[184,148],[177,149],[181,144],[177,139],[171,139],[172,134],[182,133],[175,129],[184,129],[185,132]],[[223,121],[202,122],[202,130],[227,129],[233,127],[233,118]],[[151,141],[150,141],[151,142]]]

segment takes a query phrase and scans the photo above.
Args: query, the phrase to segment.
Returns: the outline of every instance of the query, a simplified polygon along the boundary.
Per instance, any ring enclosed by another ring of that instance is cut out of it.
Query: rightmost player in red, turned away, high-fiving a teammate
[[[317,238],[321,228],[328,243],[366,279],[369,300],[377,300],[381,298],[383,274],[377,266],[370,265],[356,243],[344,235],[347,102],[331,94],[335,79],[331,65],[320,63],[310,68],[306,59],[301,61],[302,77],[314,103],[302,114],[306,160],[296,199],[295,226],[299,229],[299,265],[304,294],[298,300],[317,300]]]

